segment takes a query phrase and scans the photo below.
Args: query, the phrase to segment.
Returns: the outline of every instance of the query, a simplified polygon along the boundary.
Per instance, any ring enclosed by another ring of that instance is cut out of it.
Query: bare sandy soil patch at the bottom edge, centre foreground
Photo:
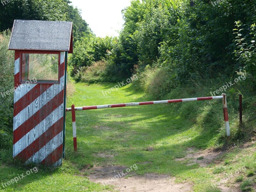
[[[132,192],[189,192],[193,185],[190,183],[175,183],[175,178],[166,174],[147,173],[143,176],[124,172],[124,166],[94,167],[88,178],[101,184],[116,186],[119,191]],[[124,175],[123,175],[123,174]],[[121,175],[122,177],[119,177]],[[111,178],[118,176],[118,179]]]

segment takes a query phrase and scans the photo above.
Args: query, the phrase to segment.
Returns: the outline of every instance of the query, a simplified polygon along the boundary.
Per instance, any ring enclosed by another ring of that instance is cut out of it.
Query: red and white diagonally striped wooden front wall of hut
[[[20,51],[15,51],[13,157],[26,163],[62,164],[65,52],[60,84],[20,84]]]

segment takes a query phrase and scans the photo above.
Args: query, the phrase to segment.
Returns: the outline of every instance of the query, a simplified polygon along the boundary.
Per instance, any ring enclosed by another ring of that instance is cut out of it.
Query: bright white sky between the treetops
[[[131,0],[70,0],[74,7],[81,9],[82,18],[92,32],[99,37],[118,36],[124,24],[122,10]]]

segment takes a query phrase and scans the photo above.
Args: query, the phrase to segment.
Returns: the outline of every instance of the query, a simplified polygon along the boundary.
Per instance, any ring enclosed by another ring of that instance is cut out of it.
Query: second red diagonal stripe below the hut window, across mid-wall
[[[60,93],[57,94],[57,97],[64,97],[64,92],[61,91]],[[28,120],[26,120],[22,125],[20,125],[14,132],[13,135],[15,135],[15,140],[14,143],[16,143],[17,141],[19,141],[24,135],[26,135],[30,130],[32,130],[34,127],[36,127],[36,125],[38,125],[39,122],[39,118],[36,118],[37,116],[39,116],[41,111],[46,111],[43,116],[41,117],[42,119],[45,119],[48,115],[50,115],[56,108],[58,108],[59,106],[55,106],[53,107],[52,102],[53,102],[54,98],[52,100],[50,100],[48,103],[46,103],[46,105],[44,105],[41,109],[39,109],[33,116],[31,116]],[[36,118],[36,119],[35,119]],[[34,119],[34,121],[32,121]],[[26,124],[28,124],[28,122],[32,122],[32,126],[29,127],[29,129],[26,130]],[[26,131],[24,131],[26,130]],[[16,137],[17,136],[17,137]]]

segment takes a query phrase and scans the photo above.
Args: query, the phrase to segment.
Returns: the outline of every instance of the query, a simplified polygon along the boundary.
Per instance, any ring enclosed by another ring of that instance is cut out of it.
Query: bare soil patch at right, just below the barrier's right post
[[[187,156],[175,159],[175,161],[188,161],[188,165],[199,164],[201,167],[206,167],[207,165],[214,163],[223,153],[223,151],[216,149],[206,149],[196,152],[195,148],[188,148]]]

